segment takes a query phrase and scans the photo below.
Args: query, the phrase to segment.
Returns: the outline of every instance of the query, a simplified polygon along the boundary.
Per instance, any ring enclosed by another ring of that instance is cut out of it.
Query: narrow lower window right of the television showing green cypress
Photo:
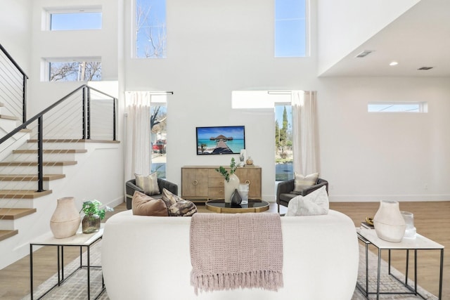
[[[294,178],[293,171],[293,114],[289,104],[275,105],[275,180]]]

